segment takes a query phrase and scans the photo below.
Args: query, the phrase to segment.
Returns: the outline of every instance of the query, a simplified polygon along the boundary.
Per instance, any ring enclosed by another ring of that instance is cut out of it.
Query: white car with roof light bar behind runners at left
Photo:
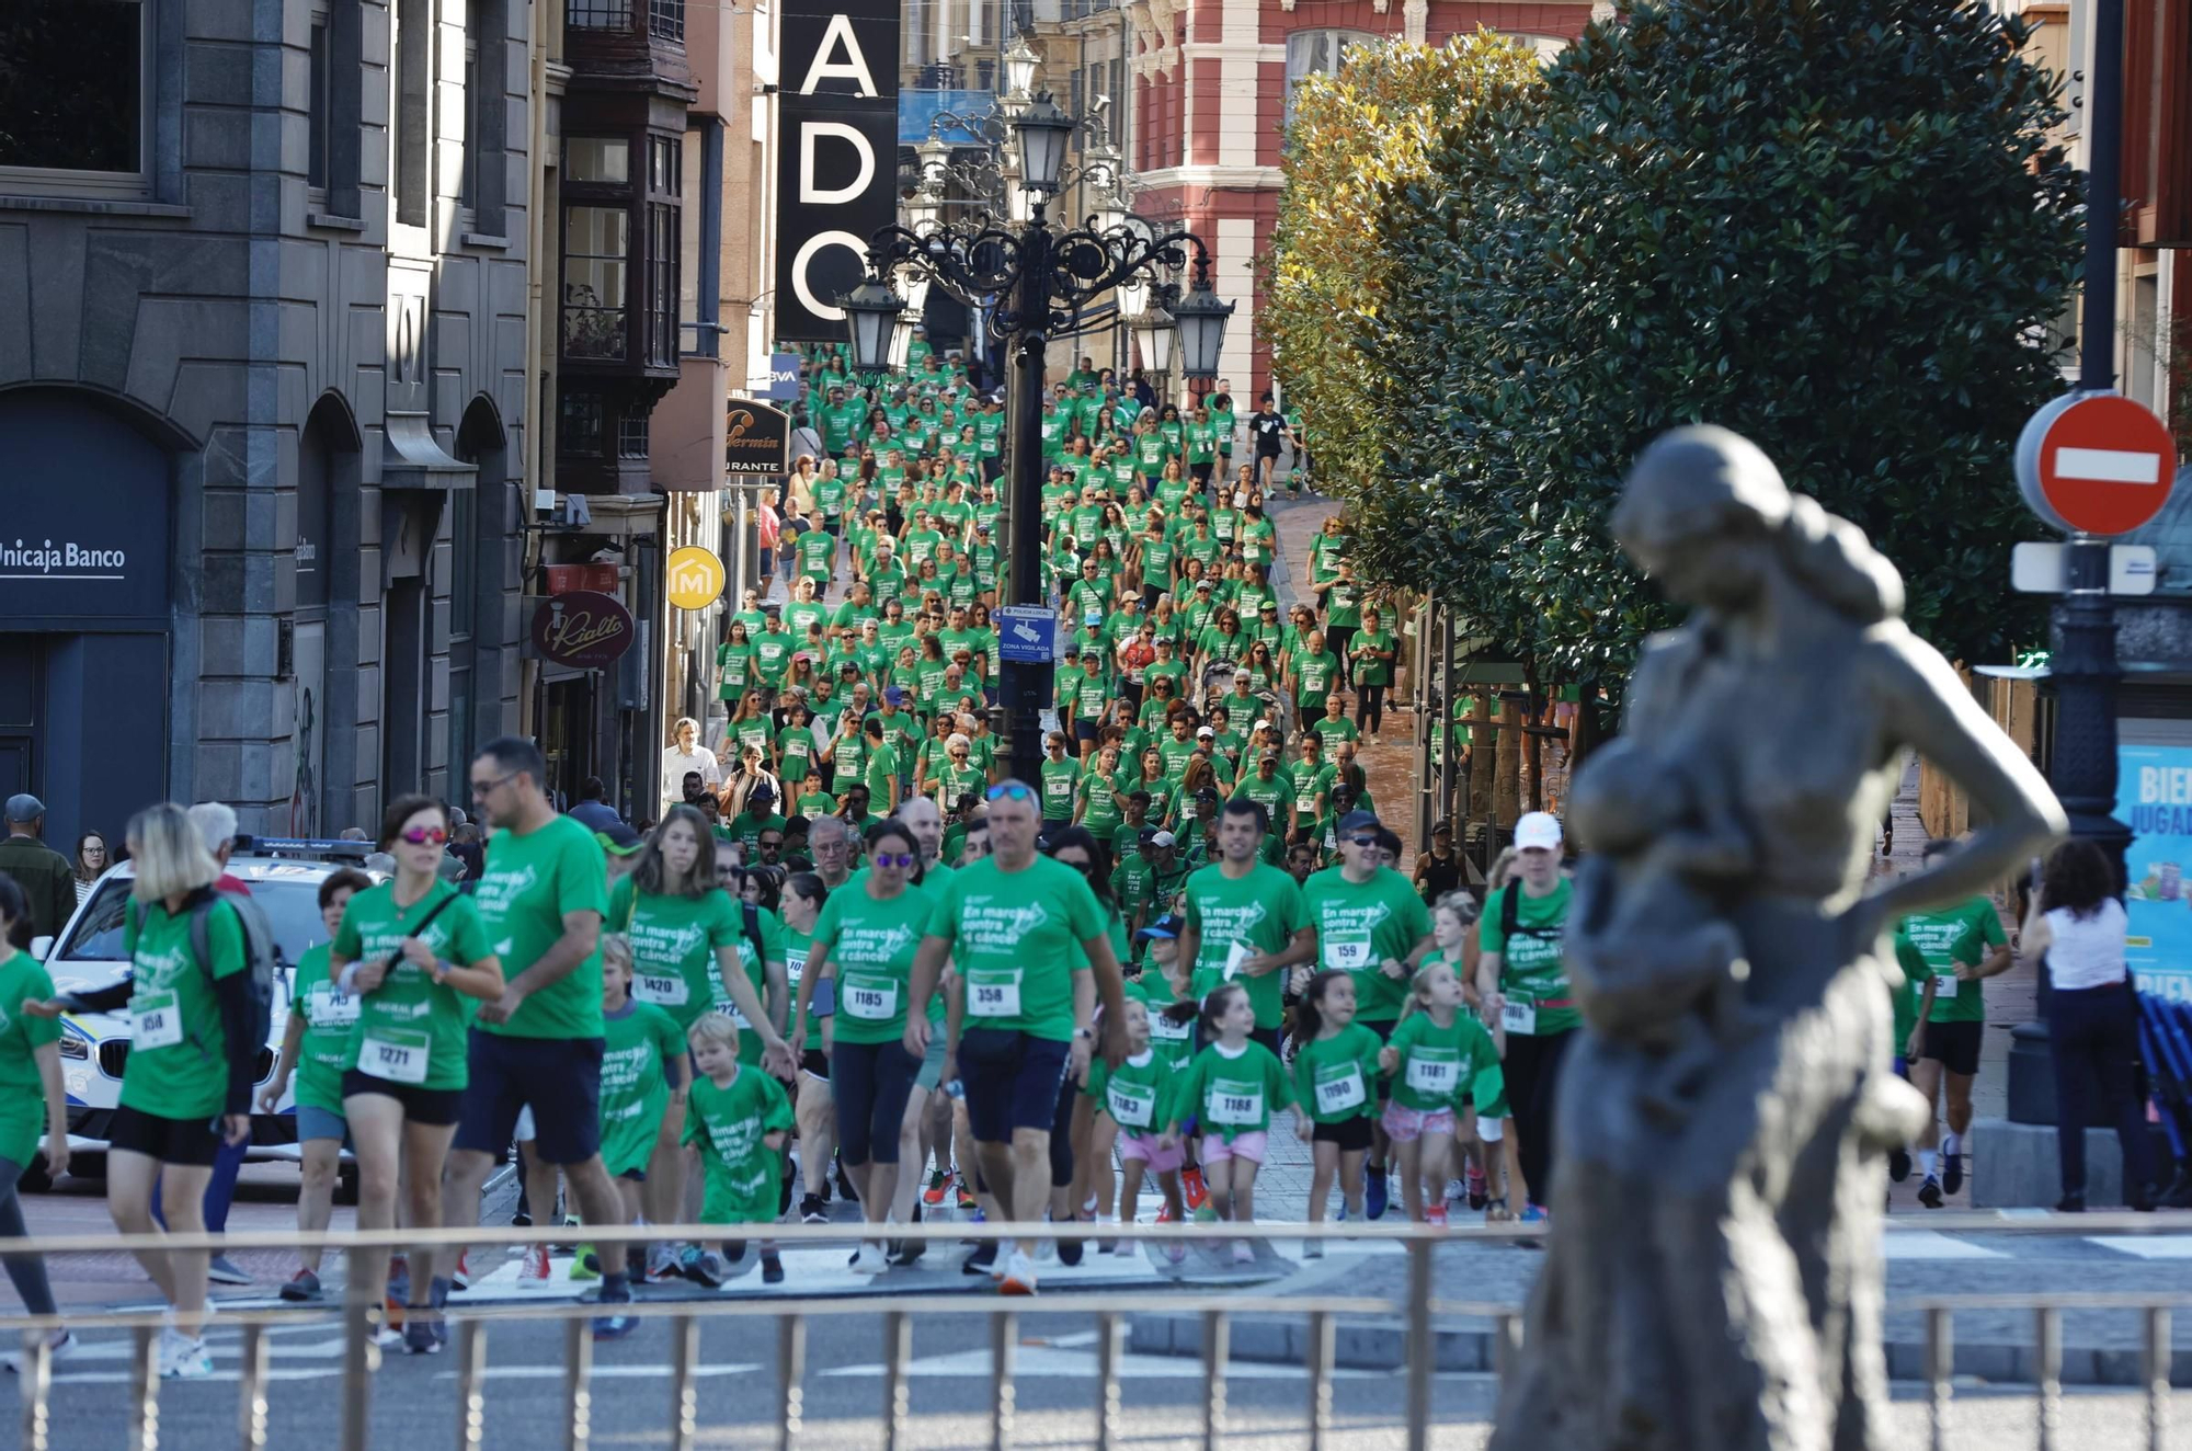
[[[305,949],[327,940],[320,923],[320,883],[344,866],[362,868],[370,842],[320,842],[305,837],[237,837],[228,857],[228,875],[250,888],[252,901],[265,912],[274,932],[274,1015],[270,1039],[259,1048],[254,1083],[274,1076],[283,1030],[289,1024],[294,971]],[[123,923],[129,905],[134,870],[121,861],[92,886],[59,938],[37,938],[31,953],[44,958],[53,986],[61,993],[103,989],[127,967]],[[68,1173],[99,1177],[105,1173],[107,1124],[121,1107],[123,1065],[129,1063],[129,1013],[68,1013],[61,1017],[61,1085],[68,1089]],[[243,1151],[248,1162],[296,1162],[294,1089],[274,1113],[256,1111],[252,1094],[252,1140]],[[349,1173],[349,1155],[344,1155]],[[42,1188],[44,1170],[33,1166],[28,1188]]]

